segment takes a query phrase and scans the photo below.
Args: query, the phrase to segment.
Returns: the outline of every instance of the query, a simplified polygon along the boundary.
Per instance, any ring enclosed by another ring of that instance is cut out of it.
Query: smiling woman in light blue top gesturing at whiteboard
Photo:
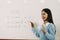
[[[31,23],[33,33],[40,38],[40,40],[55,40],[56,27],[54,25],[51,10],[48,8],[44,8],[41,11],[41,16],[43,19],[43,24],[37,30],[34,27],[34,23]]]

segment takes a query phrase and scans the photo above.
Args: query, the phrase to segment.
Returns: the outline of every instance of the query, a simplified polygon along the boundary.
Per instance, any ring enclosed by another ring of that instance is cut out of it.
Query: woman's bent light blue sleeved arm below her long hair
[[[45,36],[49,40],[54,40],[55,39],[55,27],[54,27],[53,24],[51,24],[50,27],[49,27],[49,33],[46,31]]]

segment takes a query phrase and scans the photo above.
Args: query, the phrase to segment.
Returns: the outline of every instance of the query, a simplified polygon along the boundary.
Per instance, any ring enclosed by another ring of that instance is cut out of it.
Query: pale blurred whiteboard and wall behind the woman
[[[43,8],[51,9],[60,40],[60,0],[0,0],[0,39],[39,39],[30,21],[41,25]]]

